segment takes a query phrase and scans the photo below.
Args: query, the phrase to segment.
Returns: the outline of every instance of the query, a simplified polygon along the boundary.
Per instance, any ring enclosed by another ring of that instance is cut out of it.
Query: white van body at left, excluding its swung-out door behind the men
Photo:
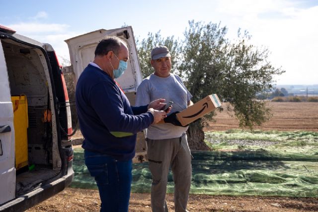
[[[0,25],[0,211],[25,211],[72,182],[68,99],[52,46]]]

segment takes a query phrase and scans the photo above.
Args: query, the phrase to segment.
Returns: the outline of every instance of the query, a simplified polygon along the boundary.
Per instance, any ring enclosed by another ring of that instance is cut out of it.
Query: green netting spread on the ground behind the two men
[[[295,137],[299,139],[299,136]],[[314,136],[311,141],[305,140],[305,144],[297,146],[290,138],[273,139],[273,143],[259,146],[254,145],[253,140],[237,140],[239,145],[236,145],[233,138],[222,138],[212,145],[217,151],[192,152],[191,193],[318,197],[318,147],[312,145],[317,140]],[[80,148],[75,149],[73,166],[72,187],[97,189],[84,165]],[[134,164],[132,173],[132,192],[149,193],[151,173],[148,163]],[[167,192],[173,192],[171,172]]]

